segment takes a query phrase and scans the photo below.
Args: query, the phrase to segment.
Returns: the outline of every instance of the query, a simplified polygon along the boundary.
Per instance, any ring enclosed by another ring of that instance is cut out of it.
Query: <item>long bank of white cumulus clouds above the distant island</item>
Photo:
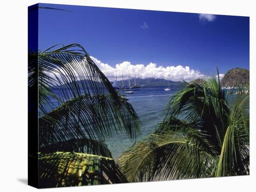
[[[133,78],[136,74],[136,78],[142,79],[160,78],[172,81],[185,80],[187,82],[202,77],[202,73],[197,70],[190,69],[189,66],[177,65],[164,67],[157,66],[155,63],[149,63],[148,65],[133,65],[129,61],[124,61],[122,63],[116,64],[115,67],[112,67],[92,56],[91,59],[110,81],[115,79],[116,73],[118,78],[121,78],[123,73],[124,79],[128,79],[128,74],[130,73],[131,78]]]

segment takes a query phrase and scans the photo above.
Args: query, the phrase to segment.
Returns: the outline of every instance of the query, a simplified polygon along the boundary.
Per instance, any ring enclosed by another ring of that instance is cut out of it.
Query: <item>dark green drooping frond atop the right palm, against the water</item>
[[[200,84],[207,85],[203,79]],[[176,119],[182,119],[190,126],[207,132],[209,140],[220,150],[223,132],[228,124],[228,112],[226,101],[212,91],[211,86],[190,84],[170,99],[164,124],[158,127],[158,130],[164,131],[175,127]]]

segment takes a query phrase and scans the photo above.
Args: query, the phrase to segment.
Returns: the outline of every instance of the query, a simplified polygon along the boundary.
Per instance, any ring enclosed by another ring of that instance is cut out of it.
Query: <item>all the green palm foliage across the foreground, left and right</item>
[[[81,45],[57,46],[28,56],[39,187],[249,174],[249,86],[234,96],[214,75],[187,84],[155,131],[115,162],[104,141],[119,133],[136,141],[140,119]]]

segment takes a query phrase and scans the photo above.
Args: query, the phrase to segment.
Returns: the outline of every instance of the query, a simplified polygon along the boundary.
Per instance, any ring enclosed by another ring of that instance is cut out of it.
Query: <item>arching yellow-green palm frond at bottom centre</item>
[[[209,177],[216,158],[203,137],[189,128],[151,134],[122,154],[121,172],[130,182]]]

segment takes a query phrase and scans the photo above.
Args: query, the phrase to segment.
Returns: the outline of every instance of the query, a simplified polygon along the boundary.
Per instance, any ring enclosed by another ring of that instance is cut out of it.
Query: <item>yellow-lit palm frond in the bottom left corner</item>
[[[85,153],[39,153],[39,187],[125,183],[111,158]]]

